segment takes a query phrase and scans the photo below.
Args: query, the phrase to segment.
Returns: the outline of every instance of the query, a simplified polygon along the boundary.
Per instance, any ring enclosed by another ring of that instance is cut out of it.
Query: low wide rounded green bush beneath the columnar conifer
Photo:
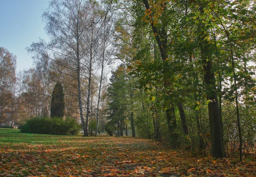
[[[77,135],[81,129],[73,118],[33,118],[19,127],[22,133]]]

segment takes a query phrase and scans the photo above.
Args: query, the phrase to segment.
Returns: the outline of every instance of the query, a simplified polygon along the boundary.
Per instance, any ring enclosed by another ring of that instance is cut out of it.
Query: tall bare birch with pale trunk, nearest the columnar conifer
[[[67,64],[69,72],[65,74],[76,73],[79,114],[84,135],[87,134],[87,126],[83,114],[81,70],[84,68],[86,55],[84,31],[90,26],[87,23],[87,8],[88,3],[84,0],[51,0],[49,7],[42,15],[50,42],[47,45],[41,40],[28,48],[29,52],[47,56],[60,64]]]

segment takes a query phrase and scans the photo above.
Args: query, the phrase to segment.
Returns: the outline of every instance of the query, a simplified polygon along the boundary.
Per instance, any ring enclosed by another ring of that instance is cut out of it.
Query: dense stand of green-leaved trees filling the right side
[[[108,89],[110,117],[121,129],[133,117],[143,135],[173,147],[187,142],[214,157],[239,151],[240,160],[253,152],[255,1],[134,0],[112,7],[125,14],[116,22],[115,55],[126,66],[112,74]]]

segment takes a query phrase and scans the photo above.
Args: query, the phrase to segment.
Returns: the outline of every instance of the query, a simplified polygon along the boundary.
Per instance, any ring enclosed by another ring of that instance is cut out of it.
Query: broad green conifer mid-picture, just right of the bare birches
[[[132,79],[128,75],[127,68],[121,64],[115,72],[112,72],[111,83],[108,87],[108,119],[118,124],[119,130],[123,131],[122,126],[126,118],[129,118],[132,136],[136,136],[135,132],[135,102],[136,100],[136,79]],[[119,124],[120,123],[120,124]]]

